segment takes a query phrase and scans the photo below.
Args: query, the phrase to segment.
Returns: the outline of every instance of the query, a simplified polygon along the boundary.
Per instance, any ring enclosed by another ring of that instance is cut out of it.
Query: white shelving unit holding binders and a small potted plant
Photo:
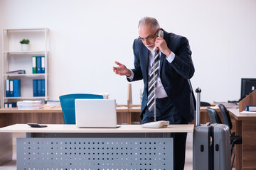
[[[20,41],[30,40],[30,49],[21,51]],[[50,98],[49,75],[49,29],[4,29],[2,36],[1,108],[5,102],[23,100],[48,100]],[[33,74],[32,56],[45,56],[45,73]],[[26,74],[6,74],[24,69]],[[6,97],[6,79],[21,79],[21,97]],[[33,97],[33,79],[45,79],[45,96]]]

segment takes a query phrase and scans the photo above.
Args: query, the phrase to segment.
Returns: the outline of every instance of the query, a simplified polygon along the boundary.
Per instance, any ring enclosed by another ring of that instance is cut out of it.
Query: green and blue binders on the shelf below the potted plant
[[[46,61],[44,56],[32,56],[33,74],[46,73]]]

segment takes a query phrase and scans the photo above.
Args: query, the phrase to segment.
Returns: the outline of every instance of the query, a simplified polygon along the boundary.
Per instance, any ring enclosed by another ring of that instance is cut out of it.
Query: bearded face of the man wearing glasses
[[[143,44],[149,49],[153,50],[154,42],[156,40],[156,29],[152,29],[151,26],[139,26],[139,37]]]

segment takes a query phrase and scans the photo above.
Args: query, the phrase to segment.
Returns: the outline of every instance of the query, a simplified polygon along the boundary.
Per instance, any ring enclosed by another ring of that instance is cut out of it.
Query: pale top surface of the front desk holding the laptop
[[[56,133],[144,133],[193,132],[193,125],[168,125],[168,128],[142,128],[141,125],[120,125],[119,128],[78,128],[75,125],[48,124],[47,128],[31,128],[26,124],[9,125],[0,132],[56,132]]]

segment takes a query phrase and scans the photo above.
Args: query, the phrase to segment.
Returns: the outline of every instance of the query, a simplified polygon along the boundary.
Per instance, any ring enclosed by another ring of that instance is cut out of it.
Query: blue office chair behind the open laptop
[[[103,96],[97,94],[67,94],[59,98],[65,124],[75,124],[75,99],[103,99]]]

